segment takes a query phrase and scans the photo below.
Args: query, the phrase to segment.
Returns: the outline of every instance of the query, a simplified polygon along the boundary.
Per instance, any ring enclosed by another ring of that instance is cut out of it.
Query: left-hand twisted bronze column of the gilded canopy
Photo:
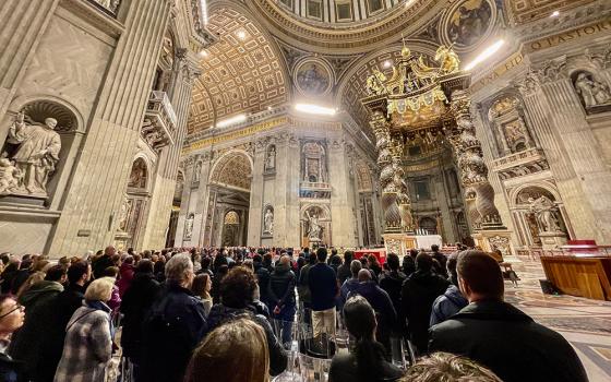
[[[375,147],[378,148],[378,165],[380,165],[380,188],[382,189],[384,232],[400,232],[402,215],[397,204],[399,190],[396,183],[397,165],[393,163],[388,126],[384,115],[381,112],[375,112],[373,115],[370,124],[375,133],[376,140]]]

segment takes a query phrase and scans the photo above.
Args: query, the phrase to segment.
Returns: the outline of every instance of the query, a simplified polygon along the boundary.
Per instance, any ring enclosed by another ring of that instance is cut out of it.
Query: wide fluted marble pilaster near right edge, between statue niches
[[[601,147],[587,126],[564,63],[556,63],[555,75],[551,64],[544,71],[531,70],[516,85],[566,207],[567,225],[577,238],[609,242],[611,177],[597,154]]]

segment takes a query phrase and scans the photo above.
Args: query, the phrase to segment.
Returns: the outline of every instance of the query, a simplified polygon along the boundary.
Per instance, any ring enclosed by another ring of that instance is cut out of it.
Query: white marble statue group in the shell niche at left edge
[[[55,118],[45,119],[45,124],[29,123],[23,112],[17,114],[7,138],[7,143],[16,147],[12,155],[2,154],[9,163],[2,164],[0,182],[12,184],[5,186],[4,192],[10,188],[14,193],[47,196],[47,183],[61,151],[57,124]]]

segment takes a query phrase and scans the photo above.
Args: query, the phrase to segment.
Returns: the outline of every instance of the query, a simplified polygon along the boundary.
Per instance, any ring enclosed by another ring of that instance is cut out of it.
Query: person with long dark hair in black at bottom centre
[[[359,295],[350,297],[344,306],[343,317],[356,345],[350,354],[333,357],[328,381],[396,381],[402,378],[403,370],[385,360],[384,346],[375,341],[378,323],[367,299]]]

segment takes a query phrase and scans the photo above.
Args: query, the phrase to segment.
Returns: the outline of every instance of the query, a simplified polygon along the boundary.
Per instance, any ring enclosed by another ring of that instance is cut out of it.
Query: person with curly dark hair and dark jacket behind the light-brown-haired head
[[[206,334],[230,320],[239,318],[253,320],[265,331],[269,351],[269,374],[275,377],[287,368],[287,355],[267,319],[256,314],[255,308],[252,306],[255,290],[256,279],[252,271],[243,266],[231,268],[220,284],[223,302],[213,306],[208,314]]]

